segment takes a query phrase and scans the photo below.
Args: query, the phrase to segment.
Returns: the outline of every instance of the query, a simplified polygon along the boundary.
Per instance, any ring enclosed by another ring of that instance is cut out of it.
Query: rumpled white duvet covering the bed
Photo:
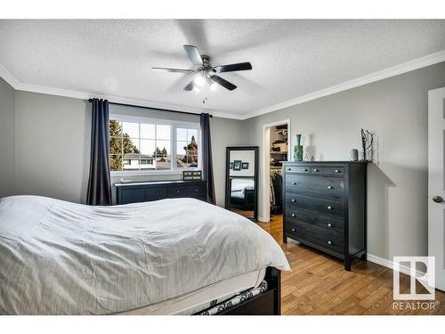
[[[271,235],[200,200],[0,200],[0,314],[124,312],[266,266],[289,270]]]

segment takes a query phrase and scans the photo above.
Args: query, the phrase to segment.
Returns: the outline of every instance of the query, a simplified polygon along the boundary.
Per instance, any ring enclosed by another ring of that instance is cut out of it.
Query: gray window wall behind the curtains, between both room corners
[[[3,102],[1,105],[4,108]],[[85,203],[90,159],[90,103],[79,99],[18,91],[15,109],[15,193]],[[199,122],[198,116],[141,108],[113,105],[109,111],[139,117],[147,116],[150,112],[150,118]],[[232,119],[212,118],[211,121],[215,192],[217,204],[220,206],[224,205],[225,147],[242,142],[244,136],[241,135],[241,126],[241,122]],[[7,127],[12,129],[13,141],[13,123]],[[1,151],[3,153],[5,149],[1,148]],[[11,152],[13,154],[14,150]],[[11,161],[7,170],[14,173],[14,159]],[[134,175],[131,178],[137,181],[151,181],[175,180],[181,177],[182,175],[176,174]],[[120,176],[112,177],[112,182],[118,182],[119,178]],[[8,180],[12,180],[13,185],[14,177],[8,177]],[[8,194],[12,193],[13,191]]]

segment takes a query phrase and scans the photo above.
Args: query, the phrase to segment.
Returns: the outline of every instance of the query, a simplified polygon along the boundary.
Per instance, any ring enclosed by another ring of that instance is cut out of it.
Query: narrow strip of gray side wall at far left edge
[[[15,193],[15,91],[0,77],[0,198]]]

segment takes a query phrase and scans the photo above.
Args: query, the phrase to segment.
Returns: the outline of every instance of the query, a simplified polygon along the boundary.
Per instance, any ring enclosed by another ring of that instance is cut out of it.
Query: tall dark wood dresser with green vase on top
[[[283,163],[283,241],[344,260],[366,257],[367,163]]]

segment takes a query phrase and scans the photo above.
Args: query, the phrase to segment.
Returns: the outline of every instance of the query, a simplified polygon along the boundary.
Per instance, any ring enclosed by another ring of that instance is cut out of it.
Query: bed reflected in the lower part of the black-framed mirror
[[[253,176],[231,176],[231,207],[243,210],[255,208],[255,182]]]

